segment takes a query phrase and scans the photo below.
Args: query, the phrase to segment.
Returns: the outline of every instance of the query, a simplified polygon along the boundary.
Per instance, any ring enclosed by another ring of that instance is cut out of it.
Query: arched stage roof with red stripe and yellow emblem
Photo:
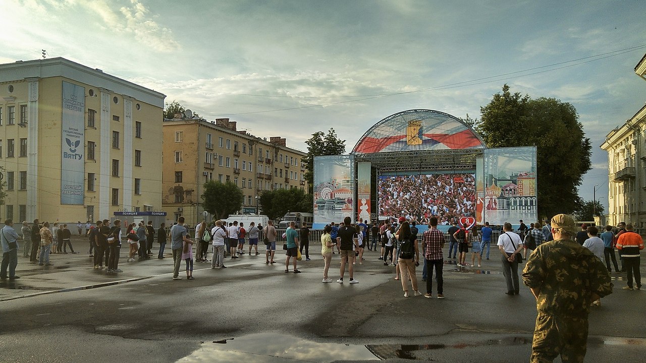
[[[375,123],[351,154],[380,172],[475,169],[486,145],[464,122],[436,110],[406,110]]]

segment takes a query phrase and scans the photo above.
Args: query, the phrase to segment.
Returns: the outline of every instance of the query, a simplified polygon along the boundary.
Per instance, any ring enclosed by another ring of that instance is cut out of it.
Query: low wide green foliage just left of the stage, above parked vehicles
[[[270,220],[280,218],[287,212],[312,213],[313,205],[312,194],[305,194],[297,188],[276,189],[260,194],[262,213],[267,214]]]

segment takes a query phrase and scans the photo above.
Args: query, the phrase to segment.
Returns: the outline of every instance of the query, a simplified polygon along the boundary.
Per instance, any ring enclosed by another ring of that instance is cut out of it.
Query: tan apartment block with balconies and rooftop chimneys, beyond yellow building
[[[187,112],[188,115],[191,115]],[[211,216],[202,207],[203,184],[233,182],[244,194],[240,214],[256,213],[262,191],[306,190],[305,152],[286,139],[259,138],[238,130],[236,121],[178,114],[163,122],[162,206],[171,220],[180,215],[193,226]]]

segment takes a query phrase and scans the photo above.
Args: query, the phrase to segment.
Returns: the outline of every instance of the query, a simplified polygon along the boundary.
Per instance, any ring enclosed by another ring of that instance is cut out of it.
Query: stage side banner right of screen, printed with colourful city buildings
[[[536,147],[486,149],[484,158],[485,221],[529,225],[536,222]]]

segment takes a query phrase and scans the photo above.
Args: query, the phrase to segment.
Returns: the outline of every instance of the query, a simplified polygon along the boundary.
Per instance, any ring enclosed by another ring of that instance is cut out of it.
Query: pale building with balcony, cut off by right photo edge
[[[634,68],[646,81],[646,55]],[[608,152],[607,223],[632,223],[646,231],[646,106],[607,134],[601,149]]]

